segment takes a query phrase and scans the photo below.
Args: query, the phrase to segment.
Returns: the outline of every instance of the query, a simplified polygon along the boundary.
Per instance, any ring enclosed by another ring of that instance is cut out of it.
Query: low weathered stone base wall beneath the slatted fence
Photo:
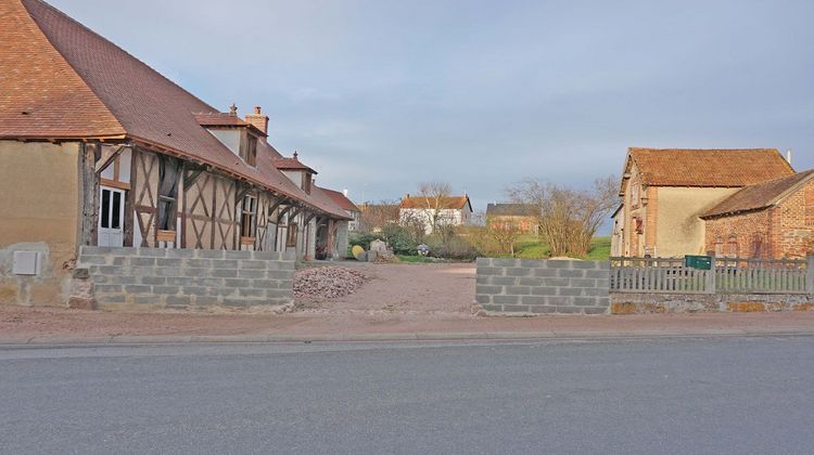
[[[611,294],[612,314],[814,311],[805,294]]]

